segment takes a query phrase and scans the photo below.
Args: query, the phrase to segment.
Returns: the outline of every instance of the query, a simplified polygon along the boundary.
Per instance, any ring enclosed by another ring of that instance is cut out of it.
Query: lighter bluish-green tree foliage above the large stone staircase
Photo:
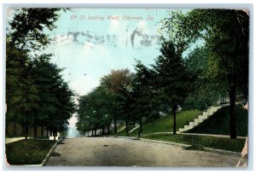
[[[191,51],[184,60],[193,84],[186,100],[189,107],[202,110],[217,102],[219,97],[227,96],[223,84],[212,80],[215,78],[214,71],[216,72],[216,61],[212,57],[210,50],[201,46]]]

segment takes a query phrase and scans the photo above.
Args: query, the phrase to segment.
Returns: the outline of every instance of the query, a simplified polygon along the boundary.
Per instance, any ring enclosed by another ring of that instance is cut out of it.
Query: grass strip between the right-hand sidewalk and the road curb
[[[198,146],[205,148],[223,149],[232,152],[241,152],[246,141],[245,138],[230,139],[227,137],[214,137],[214,136],[192,136],[192,135],[145,135],[143,138],[160,140],[165,142],[177,142],[183,144],[189,144],[192,146]]]

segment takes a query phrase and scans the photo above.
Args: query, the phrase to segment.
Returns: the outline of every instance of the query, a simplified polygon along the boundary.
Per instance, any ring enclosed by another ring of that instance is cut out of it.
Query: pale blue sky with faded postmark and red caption
[[[145,65],[160,55],[158,28],[167,9],[72,9],[61,12],[46,53],[64,67],[63,78],[86,95],[113,69]]]

